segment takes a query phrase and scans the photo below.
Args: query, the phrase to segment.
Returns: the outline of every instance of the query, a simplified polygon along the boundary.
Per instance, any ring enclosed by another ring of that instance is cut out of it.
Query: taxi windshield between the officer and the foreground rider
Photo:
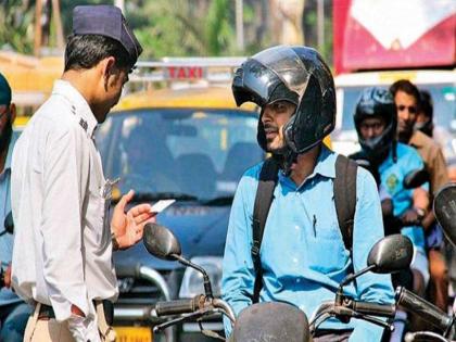
[[[264,154],[256,113],[147,109],[109,116],[97,131],[107,178],[119,190],[211,201],[231,198]]]

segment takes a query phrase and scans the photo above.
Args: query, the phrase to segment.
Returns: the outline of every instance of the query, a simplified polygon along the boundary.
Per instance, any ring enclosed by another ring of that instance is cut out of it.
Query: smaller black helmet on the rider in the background
[[[383,132],[373,139],[363,139],[359,130],[362,122],[375,116],[384,119]],[[384,159],[396,141],[397,114],[391,92],[377,87],[365,89],[358,99],[354,121],[363,151],[369,157]]]

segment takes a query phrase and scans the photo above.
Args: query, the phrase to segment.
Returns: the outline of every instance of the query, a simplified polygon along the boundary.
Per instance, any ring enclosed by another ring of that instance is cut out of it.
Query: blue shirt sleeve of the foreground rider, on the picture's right
[[[358,167],[357,203],[353,228],[353,264],[358,271],[367,266],[373,244],[384,236],[381,206],[376,182],[370,174]],[[368,273],[356,279],[356,290],[362,301],[393,303],[394,291],[390,275]],[[380,341],[383,328],[357,320],[350,341]]]

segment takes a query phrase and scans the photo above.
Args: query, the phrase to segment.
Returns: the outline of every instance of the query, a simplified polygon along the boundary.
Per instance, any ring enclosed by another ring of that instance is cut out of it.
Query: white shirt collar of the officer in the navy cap
[[[69,101],[73,114],[79,116],[79,125],[87,131],[89,137],[92,137],[98,122],[83,94],[71,83],[63,79],[55,80],[52,93],[61,94]]]

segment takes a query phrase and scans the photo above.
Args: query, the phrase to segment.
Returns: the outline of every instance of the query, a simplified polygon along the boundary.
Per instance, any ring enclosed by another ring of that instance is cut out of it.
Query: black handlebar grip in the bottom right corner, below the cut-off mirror
[[[397,305],[404,306],[407,311],[417,314],[442,331],[447,331],[453,324],[452,317],[405,288],[397,288],[396,303]]]

